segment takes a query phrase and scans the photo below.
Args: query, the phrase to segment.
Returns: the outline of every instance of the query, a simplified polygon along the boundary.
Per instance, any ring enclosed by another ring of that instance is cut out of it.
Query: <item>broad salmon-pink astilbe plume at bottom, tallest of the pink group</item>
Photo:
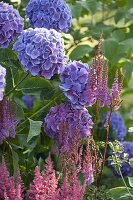
[[[41,173],[39,167],[35,169],[33,184],[27,194],[28,200],[54,200],[58,180],[52,167],[50,155],[46,164],[45,173]]]

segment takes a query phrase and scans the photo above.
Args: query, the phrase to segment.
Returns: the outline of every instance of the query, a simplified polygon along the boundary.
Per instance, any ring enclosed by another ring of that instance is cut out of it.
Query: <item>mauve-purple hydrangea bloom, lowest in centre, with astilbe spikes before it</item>
[[[44,123],[46,133],[56,140],[61,151],[69,149],[76,134],[79,139],[90,136],[93,127],[87,109],[73,109],[69,102],[51,108]]]

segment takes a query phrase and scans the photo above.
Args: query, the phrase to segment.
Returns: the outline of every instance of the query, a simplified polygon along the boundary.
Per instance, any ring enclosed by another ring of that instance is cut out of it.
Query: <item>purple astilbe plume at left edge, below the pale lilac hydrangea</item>
[[[0,113],[0,144],[2,144],[6,138],[15,137],[17,120],[13,114],[11,103],[6,99],[0,102]]]

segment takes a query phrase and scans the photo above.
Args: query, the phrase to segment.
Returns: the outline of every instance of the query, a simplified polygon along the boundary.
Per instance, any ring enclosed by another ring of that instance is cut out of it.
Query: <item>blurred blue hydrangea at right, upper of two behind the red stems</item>
[[[102,118],[103,122],[105,122],[107,115],[109,116],[109,112],[103,115],[103,118]],[[123,141],[124,137],[127,134],[127,130],[126,130],[126,126],[125,126],[123,117],[120,114],[113,112],[111,115],[111,119],[110,119],[110,125],[112,126],[114,133],[116,133],[117,139],[119,141]]]

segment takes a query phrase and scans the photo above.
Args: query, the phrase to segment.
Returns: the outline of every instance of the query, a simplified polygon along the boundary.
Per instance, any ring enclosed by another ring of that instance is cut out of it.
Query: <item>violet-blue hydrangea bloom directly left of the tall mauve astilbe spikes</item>
[[[74,108],[90,106],[96,101],[95,90],[90,87],[89,73],[91,70],[87,64],[73,61],[66,65],[60,76],[60,88]]]

